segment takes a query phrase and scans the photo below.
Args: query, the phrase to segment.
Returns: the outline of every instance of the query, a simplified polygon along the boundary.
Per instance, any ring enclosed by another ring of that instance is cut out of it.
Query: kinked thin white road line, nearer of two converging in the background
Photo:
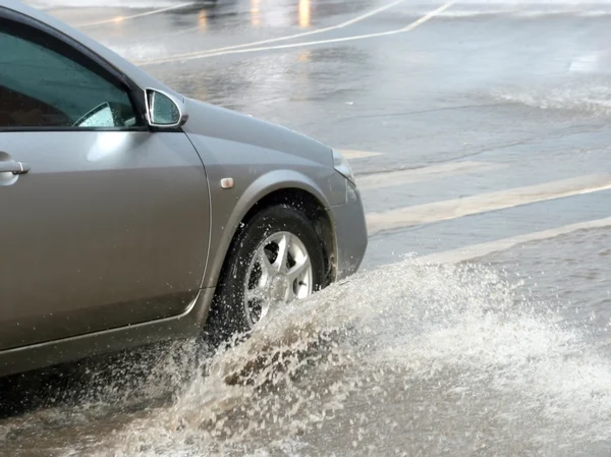
[[[367,38],[385,37],[387,35],[395,35],[395,34],[412,31],[413,29],[415,29],[415,27],[425,23],[426,21],[430,20],[437,14],[447,10],[454,3],[455,3],[455,0],[447,2],[446,4],[437,8],[436,10],[433,10],[430,13],[427,13],[426,15],[422,16],[422,18],[410,23],[408,26],[401,27],[400,29],[389,30],[386,32],[377,32],[377,33],[365,34],[365,35],[352,35],[349,37],[342,37],[342,38],[329,38],[328,40],[318,40],[318,41],[313,41],[313,42],[291,43],[288,45],[262,46],[259,48],[229,49],[226,51],[202,51],[201,53],[192,54],[191,56],[167,57],[165,59],[144,60],[142,62],[134,62],[134,63],[136,65],[141,65],[141,66],[153,65],[153,64],[167,64],[170,62],[186,62],[187,60],[205,59],[207,57],[218,57],[218,56],[225,56],[228,54],[246,54],[246,53],[255,53],[258,51],[274,51],[277,49],[302,48],[304,46],[323,45],[323,44],[329,44],[329,43],[342,43],[342,42],[349,42],[349,41],[354,41],[354,40],[365,40]]]

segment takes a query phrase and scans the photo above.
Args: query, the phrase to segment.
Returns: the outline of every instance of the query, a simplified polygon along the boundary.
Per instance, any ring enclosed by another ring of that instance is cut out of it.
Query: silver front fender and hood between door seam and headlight
[[[210,263],[202,287],[214,287],[238,225],[260,199],[301,189],[324,208],[346,202],[346,179],[332,166],[331,148],[248,115],[186,100],[183,126],[206,166],[212,208]],[[232,178],[233,187],[221,187]],[[329,214],[331,216],[331,214]]]

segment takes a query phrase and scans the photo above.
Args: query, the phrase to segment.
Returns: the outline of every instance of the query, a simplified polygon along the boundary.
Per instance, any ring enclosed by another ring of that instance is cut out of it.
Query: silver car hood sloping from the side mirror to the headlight
[[[191,98],[186,98],[186,107],[189,119],[183,131],[187,134],[250,144],[333,165],[329,146],[284,126]]]

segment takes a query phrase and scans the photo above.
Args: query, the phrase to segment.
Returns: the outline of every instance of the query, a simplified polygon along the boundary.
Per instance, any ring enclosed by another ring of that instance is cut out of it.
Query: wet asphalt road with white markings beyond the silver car
[[[611,3],[69,3],[39,5],[189,97],[345,151],[377,227],[365,274],[452,251],[509,271],[533,301],[596,334],[588,351],[607,351],[597,332],[611,318],[611,222],[600,222],[611,202]],[[577,382],[590,392],[592,379]],[[597,386],[611,398],[608,381]],[[608,455],[609,437],[595,438],[583,431],[580,452]],[[486,443],[477,455],[493,455]],[[510,450],[533,448],[497,451]]]

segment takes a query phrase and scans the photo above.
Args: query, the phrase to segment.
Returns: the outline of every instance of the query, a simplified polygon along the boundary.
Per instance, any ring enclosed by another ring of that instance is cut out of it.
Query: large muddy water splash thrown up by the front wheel
[[[174,346],[156,364],[172,401],[81,406],[62,453],[593,455],[611,434],[611,365],[551,305],[481,266],[362,272],[277,310],[197,370],[185,362],[197,346]],[[41,414],[23,423],[44,427]]]

